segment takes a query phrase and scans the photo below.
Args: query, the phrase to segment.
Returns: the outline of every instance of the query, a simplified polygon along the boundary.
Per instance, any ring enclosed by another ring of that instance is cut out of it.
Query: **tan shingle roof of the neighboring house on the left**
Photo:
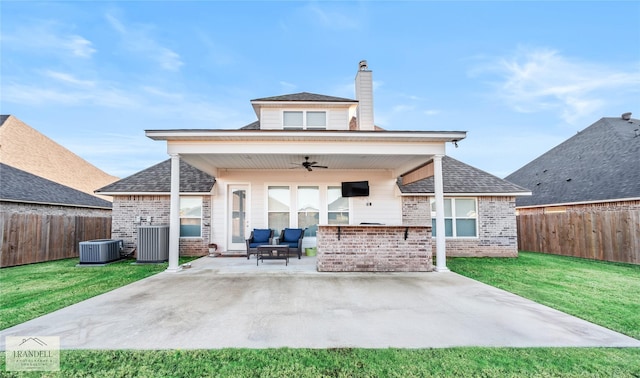
[[[0,163],[89,195],[118,180],[15,116],[3,115],[0,121]]]

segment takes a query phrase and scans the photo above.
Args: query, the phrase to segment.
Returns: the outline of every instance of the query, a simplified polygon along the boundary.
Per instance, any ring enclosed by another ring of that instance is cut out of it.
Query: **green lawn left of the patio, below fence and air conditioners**
[[[192,258],[181,258],[180,263]],[[0,329],[141,280],[167,264],[132,265],[124,260],[106,266],[76,267],[78,259],[0,269]]]

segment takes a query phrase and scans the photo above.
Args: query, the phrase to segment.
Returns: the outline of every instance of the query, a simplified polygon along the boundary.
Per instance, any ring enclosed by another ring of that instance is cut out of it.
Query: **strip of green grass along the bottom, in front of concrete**
[[[63,351],[60,372],[6,377],[638,377],[640,349]],[[0,366],[4,370],[3,366]]]

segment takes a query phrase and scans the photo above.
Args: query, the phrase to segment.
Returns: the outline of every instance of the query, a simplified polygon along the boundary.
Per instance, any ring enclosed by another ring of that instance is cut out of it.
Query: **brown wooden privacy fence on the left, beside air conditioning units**
[[[0,213],[0,267],[79,257],[81,241],[111,237],[111,216]]]

